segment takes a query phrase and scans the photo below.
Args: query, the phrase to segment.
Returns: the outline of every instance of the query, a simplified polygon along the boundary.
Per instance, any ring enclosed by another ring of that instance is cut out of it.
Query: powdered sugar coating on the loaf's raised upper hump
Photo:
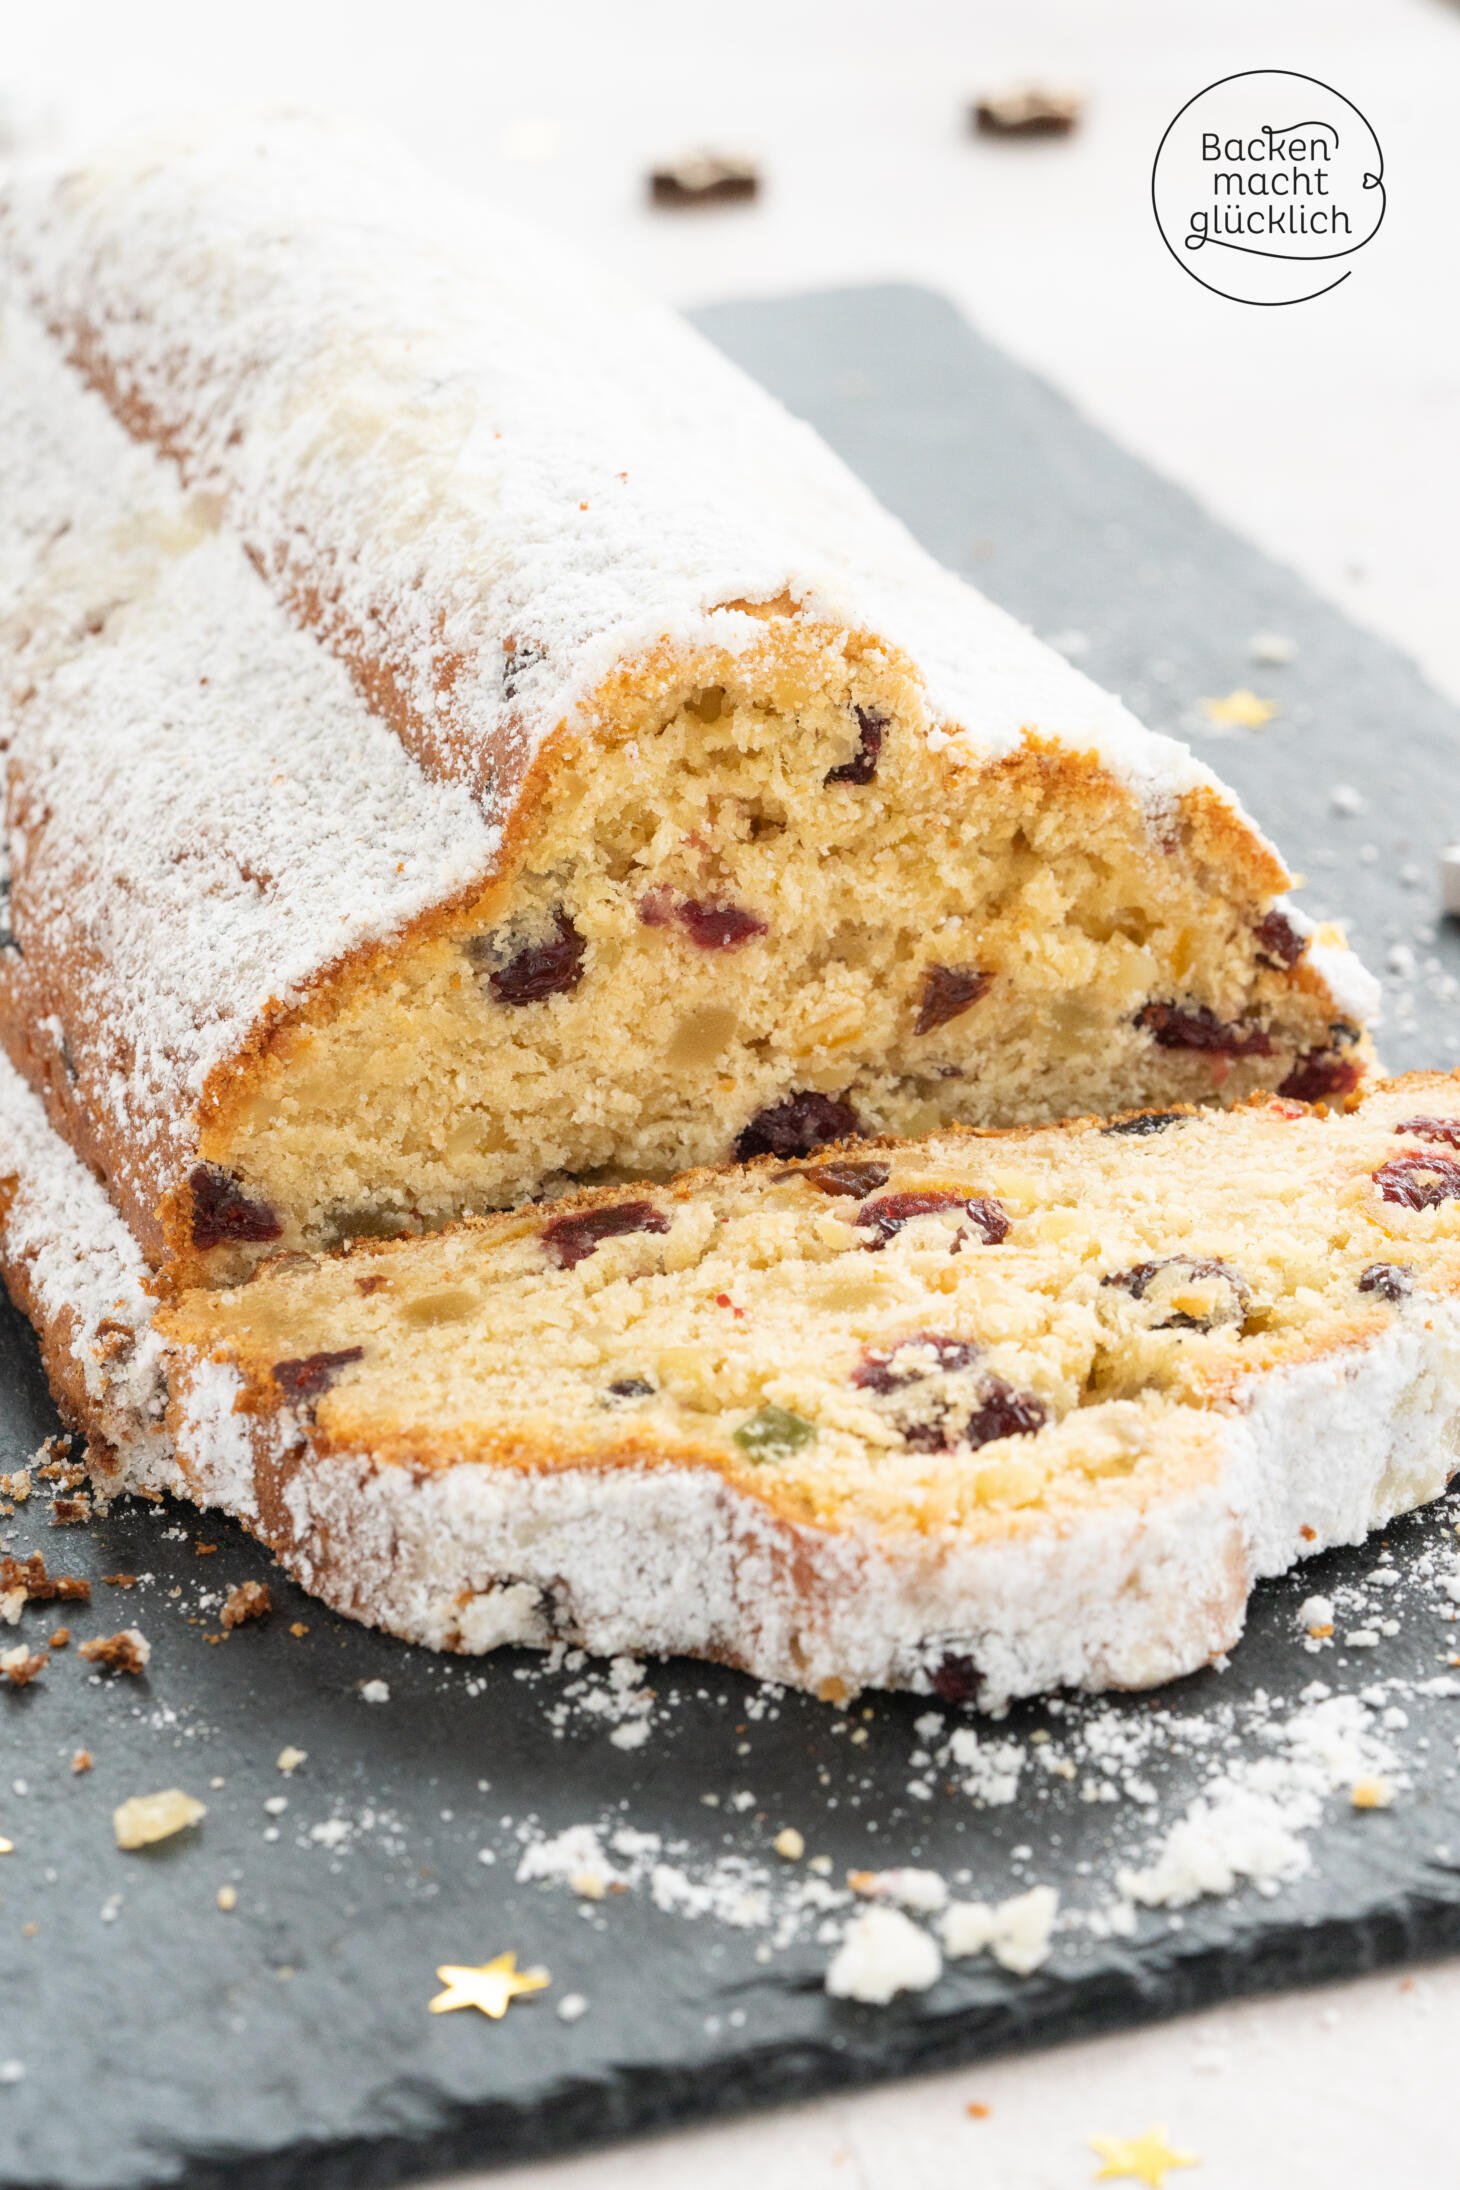
[[[1038,729],[1156,806],[1215,786],[676,315],[372,136],[131,145],[18,182],[2,230],[44,315],[495,810],[617,664],[751,644],[764,624],[722,604],[781,596],[904,648],[941,745]]]

